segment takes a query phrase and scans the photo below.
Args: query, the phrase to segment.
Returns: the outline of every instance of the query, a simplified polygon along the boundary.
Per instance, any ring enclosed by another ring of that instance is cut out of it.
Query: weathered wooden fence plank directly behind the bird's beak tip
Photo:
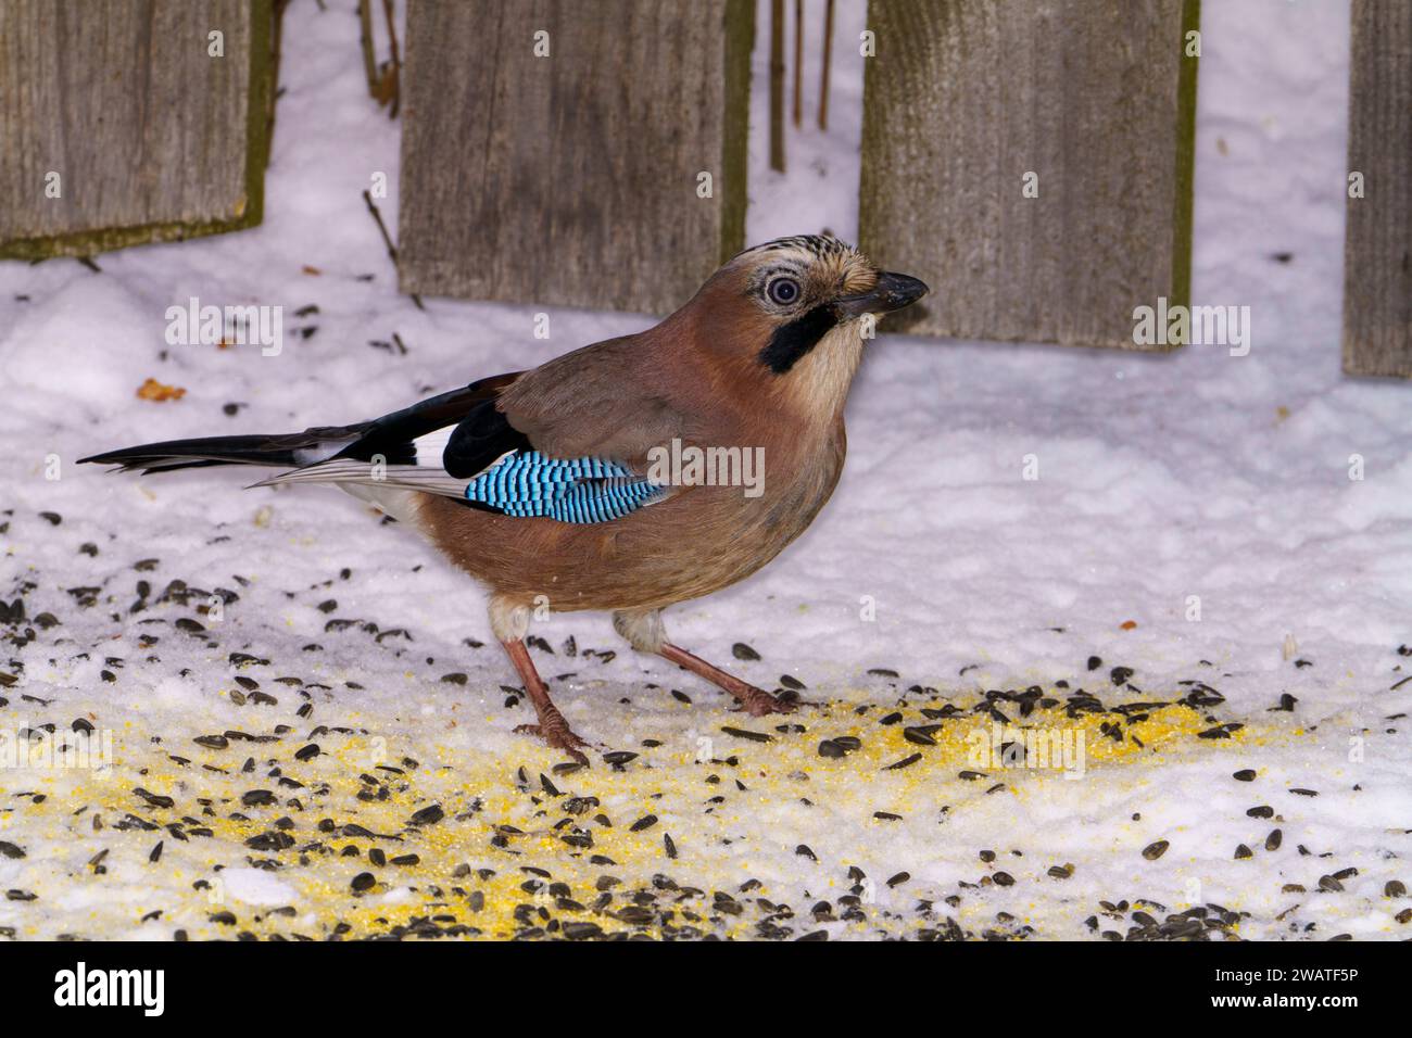
[[[871,0],[858,237],[933,287],[909,330],[1144,349],[1134,309],[1187,304],[1196,18]]]

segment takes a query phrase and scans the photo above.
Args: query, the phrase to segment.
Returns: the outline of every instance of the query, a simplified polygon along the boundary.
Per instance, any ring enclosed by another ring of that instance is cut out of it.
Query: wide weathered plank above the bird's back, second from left
[[[402,291],[683,304],[744,244],[753,37],[751,0],[412,0]]]

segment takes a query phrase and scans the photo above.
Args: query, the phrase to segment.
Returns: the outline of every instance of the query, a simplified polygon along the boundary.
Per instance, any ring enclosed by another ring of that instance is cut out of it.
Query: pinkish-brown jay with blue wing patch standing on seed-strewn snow
[[[928,291],[832,234],[781,237],[727,260],[644,332],[381,418],[80,460],[143,475],[267,466],[281,472],[251,486],[333,484],[374,504],[489,590],[537,717],[515,730],[582,765],[590,743],[525,647],[542,610],[610,612],[634,650],[751,716],[798,706],[672,643],[662,610],[743,580],[809,527],[843,470],[844,401],[875,321]]]

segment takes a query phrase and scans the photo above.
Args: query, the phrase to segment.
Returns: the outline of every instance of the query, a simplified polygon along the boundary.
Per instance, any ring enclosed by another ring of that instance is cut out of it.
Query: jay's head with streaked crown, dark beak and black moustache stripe
[[[874,321],[928,291],[914,277],[878,270],[846,241],[801,234],[740,253],[696,302],[720,319],[712,350],[737,376],[764,378],[779,395],[827,412],[843,405]]]

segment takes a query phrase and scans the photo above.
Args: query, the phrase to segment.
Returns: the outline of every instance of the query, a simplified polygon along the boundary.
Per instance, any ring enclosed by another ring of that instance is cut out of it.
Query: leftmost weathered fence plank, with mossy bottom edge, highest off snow
[[[268,0],[0,0],[0,257],[258,223],[270,18]]]

